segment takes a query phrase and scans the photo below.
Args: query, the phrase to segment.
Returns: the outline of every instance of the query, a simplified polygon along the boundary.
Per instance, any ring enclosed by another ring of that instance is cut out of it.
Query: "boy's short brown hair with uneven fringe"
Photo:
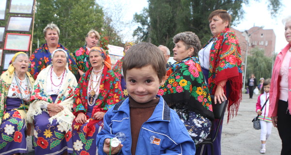
[[[129,48],[123,59],[123,74],[132,68],[142,68],[151,65],[156,71],[160,82],[166,75],[166,62],[162,51],[151,43],[139,43]]]

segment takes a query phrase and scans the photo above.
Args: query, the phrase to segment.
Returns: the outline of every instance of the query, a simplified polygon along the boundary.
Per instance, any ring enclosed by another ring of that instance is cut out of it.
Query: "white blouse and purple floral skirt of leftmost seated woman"
[[[3,79],[10,76],[12,82]],[[0,110],[0,155],[27,153],[26,111],[30,103],[32,76],[16,81],[14,74],[6,71],[0,78],[1,110]],[[10,84],[9,84],[10,83]]]

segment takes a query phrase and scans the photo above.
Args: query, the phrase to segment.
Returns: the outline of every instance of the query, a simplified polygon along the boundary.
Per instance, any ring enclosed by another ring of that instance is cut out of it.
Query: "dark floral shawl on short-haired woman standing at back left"
[[[75,75],[79,76],[78,67],[76,60],[74,59],[73,54],[60,43],[57,48],[62,48],[68,53],[68,65],[69,70]],[[51,54],[49,52],[48,44],[42,45],[42,47],[37,48],[31,55],[30,59],[31,65],[28,67],[28,71],[33,75],[33,78],[36,79],[37,75],[42,69],[45,69],[51,63]]]

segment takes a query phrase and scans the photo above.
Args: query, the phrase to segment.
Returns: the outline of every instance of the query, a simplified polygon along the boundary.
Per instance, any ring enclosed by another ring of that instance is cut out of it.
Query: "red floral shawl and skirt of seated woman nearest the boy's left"
[[[92,69],[89,69],[81,77],[74,95],[73,113],[77,117],[79,113],[84,113],[87,117],[85,124],[73,122],[74,155],[97,155],[96,137],[103,129],[103,120],[92,118],[94,113],[106,112],[114,104],[121,101],[121,85],[116,74],[104,65],[102,78],[100,81],[100,92],[94,105],[88,104],[87,87],[89,84]]]

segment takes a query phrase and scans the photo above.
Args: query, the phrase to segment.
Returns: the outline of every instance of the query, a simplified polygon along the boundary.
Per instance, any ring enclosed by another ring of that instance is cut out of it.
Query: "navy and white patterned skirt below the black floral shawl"
[[[178,113],[178,115],[184,122],[190,137],[194,140],[195,145],[205,140],[210,134],[211,121],[208,118],[203,117],[200,114],[196,114],[193,111],[189,112],[188,120],[183,117],[183,114],[180,115]]]

